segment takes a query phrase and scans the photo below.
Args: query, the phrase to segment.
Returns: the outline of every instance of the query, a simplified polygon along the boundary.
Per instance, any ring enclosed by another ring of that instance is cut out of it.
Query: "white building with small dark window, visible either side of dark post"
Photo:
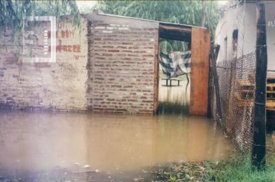
[[[267,76],[275,76],[275,1],[263,1],[266,14]],[[220,45],[217,62],[256,50],[256,1],[229,1],[215,32]]]

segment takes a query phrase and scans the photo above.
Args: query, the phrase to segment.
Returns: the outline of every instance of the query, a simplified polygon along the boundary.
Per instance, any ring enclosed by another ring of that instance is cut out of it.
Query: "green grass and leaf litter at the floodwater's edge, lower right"
[[[224,161],[181,163],[151,169],[151,177],[144,181],[201,181],[201,182],[272,182],[275,166],[270,157],[265,170],[252,166],[251,155],[235,154]]]

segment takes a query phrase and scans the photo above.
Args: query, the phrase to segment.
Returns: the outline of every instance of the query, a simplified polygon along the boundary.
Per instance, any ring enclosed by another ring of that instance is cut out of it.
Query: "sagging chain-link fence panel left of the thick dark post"
[[[256,52],[210,67],[212,117],[242,151],[250,151],[253,144],[255,70]]]

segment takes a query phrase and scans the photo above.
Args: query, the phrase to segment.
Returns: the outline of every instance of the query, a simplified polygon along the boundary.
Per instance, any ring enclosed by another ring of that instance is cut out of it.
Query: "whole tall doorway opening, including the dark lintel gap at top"
[[[189,114],[192,27],[159,23],[158,113]]]

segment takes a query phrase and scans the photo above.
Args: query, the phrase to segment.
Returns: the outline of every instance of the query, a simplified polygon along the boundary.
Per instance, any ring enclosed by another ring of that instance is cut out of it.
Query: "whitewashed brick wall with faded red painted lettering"
[[[56,62],[21,62],[20,49],[4,36],[0,47],[0,105],[11,109],[86,110],[87,21],[69,20],[56,34]]]

